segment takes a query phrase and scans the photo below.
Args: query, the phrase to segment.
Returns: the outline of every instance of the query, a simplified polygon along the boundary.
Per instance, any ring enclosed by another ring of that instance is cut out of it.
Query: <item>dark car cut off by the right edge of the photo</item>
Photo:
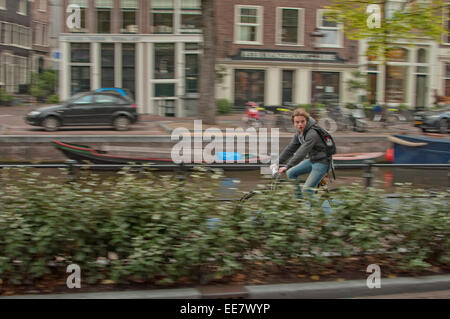
[[[420,111],[414,115],[414,126],[422,131],[437,130],[442,134],[450,127],[450,106],[434,111]]]

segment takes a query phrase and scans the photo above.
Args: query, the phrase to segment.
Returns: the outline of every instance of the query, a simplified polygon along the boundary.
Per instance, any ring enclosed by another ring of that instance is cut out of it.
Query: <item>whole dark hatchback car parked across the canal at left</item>
[[[40,107],[25,117],[30,125],[56,131],[60,126],[114,126],[128,130],[138,120],[133,101],[114,93],[85,92],[72,96],[60,105]]]

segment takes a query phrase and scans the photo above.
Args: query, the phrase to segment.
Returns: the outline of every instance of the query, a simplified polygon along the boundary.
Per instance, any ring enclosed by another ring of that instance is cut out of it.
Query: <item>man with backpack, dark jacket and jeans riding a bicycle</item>
[[[297,179],[300,175],[309,173],[303,189],[312,193],[312,189],[317,188],[331,168],[332,157],[327,154],[327,146],[322,137],[312,128],[316,121],[304,109],[295,109],[291,119],[296,133],[281,152],[279,163],[290,160],[278,169],[278,173],[286,172],[289,179]],[[274,166],[271,167],[273,169]]]

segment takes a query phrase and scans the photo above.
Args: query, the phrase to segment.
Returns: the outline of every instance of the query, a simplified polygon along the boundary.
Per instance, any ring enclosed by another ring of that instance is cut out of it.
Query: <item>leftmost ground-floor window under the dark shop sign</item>
[[[235,71],[234,104],[245,106],[247,102],[264,103],[264,70]]]

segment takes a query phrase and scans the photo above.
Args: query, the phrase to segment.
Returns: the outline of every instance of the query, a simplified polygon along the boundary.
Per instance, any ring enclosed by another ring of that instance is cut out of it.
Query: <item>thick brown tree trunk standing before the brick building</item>
[[[214,0],[202,0],[203,56],[200,62],[198,117],[204,124],[216,121],[216,22]]]

